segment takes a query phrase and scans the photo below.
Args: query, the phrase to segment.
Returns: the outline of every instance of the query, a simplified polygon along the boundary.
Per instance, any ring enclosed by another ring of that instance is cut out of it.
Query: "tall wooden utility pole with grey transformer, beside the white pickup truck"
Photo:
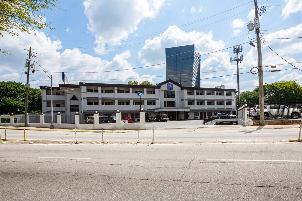
[[[260,24],[259,24],[259,17],[258,17],[258,4],[257,0],[254,0],[255,3],[255,32],[257,35],[257,50],[258,50],[258,80],[259,80],[259,125],[260,126],[265,126],[265,121],[264,121],[264,92],[263,92],[263,70],[262,70],[262,52],[261,52],[261,42],[260,42],[260,37],[259,37],[259,32],[260,32]],[[264,9],[264,7],[263,7]],[[262,11],[263,13],[265,12]],[[260,13],[261,15],[261,13]]]

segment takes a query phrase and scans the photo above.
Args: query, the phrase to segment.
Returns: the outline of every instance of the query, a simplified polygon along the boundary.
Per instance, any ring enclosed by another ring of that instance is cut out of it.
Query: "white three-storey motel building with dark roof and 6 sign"
[[[44,114],[50,113],[50,87],[41,86],[40,89],[42,111]],[[137,92],[144,94],[141,97],[141,108],[147,115],[167,114],[171,120],[202,119],[218,112],[235,111],[234,89],[183,87],[172,80],[166,80],[154,86],[59,84],[59,87],[53,87],[53,113],[60,112],[68,117],[66,121],[74,122],[76,111],[85,118],[95,114],[95,111],[99,115],[114,116],[119,110],[121,118],[129,116],[133,121],[138,121],[140,97]]]

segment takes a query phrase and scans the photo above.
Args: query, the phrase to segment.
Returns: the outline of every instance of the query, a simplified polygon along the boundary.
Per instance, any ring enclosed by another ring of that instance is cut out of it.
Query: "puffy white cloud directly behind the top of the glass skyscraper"
[[[224,43],[221,40],[214,41],[212,32],[203,33],[195,30],[185,32],[173,25],[158,37],[146,40],[138,55],[145,65],[165,63],[165,48],[191,45],[192,43],[200,54],[224,48]],[[154,58],[159,59],[147,61]],[[155,66],[154,68],[165,68],[165,65]]]

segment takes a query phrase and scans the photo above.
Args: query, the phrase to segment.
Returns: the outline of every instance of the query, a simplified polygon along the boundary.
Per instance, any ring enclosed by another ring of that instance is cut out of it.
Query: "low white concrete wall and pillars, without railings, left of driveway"
[[[95,114],[95,119],[98,118],[98,114]],[[11,122],[14,122],[14,115],[10,115]],[[137,123],[121,123],[120,113],[116,113],[116,123],[113,124],[99,124],[98,121],[95,121],[94,124],[80,124],[79,123],[79,115],[75,115],[75,123],[74,124],[61,124],[61,115],[57,115],[57,123],[53,124],[54,128],[66,128],[66,129],[94,129],[94,130],[137,130],[140,127],[140,130],[146,129],[146,119],[145,112],[140,112],[140,122]],[[0,124],[1,126],[20,126],[23,127],[24,124],[14,124],[14,123],[6,123]],[[39,124],[31,124],[28,123],[28,127],[42,127],[42,128],[50,128],[50,124],[44,123],[44,115],[40,115],[40,123]]]

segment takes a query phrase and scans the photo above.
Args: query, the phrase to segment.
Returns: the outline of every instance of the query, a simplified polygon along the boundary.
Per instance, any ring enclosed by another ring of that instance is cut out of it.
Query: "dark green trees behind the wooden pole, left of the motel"
[[[0,114],[25,113],[25,86],[21,82],[0,82]],[[41,113],[41,90],[29,88],[28,114]]]

